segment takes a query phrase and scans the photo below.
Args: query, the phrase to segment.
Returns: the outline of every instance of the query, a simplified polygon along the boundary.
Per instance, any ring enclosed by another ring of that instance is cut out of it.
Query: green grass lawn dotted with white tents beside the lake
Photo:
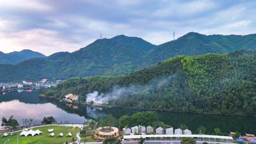
[[[33,131],[36,131],[37,129],[39,129],[44,134],[34,135],[34,137],[32,137],[31,135],[28,135],[27,137],[22,135],[19,137],[19,141],[18,141],[19,144],[62,144],[66,141],[68,141],[68,143],[71,143],[72,138],[77,140],[76,132],[80,131],[79,128],[72,129],[72,127],[66,127],[66,126],[43,126],[43,127],[33,128]],[[48,129],[54,129],[53,132],[55,136],[48,137],[48,135],[52,133],[52,132],[48,132]],[[63,137],[58,136],[61,133],[60,132],[61,130],[63,133]],[[66,136],[69,132],[72,133],[71,137]],[[20,134],[21,131],[16,133]],[[10,134],[7,137],[0,137],[0,144],[3,144],[8,139],[10,139],[10,141],[6,142],[6,144],[17,144],[17,135],[10,136]]]

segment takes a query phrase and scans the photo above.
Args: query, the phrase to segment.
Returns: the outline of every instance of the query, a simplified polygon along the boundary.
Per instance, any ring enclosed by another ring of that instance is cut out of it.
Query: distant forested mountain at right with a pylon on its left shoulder
[[[145,56],[146,65],[156,64],[176,55],[200,55],[205,53],[228,53],[235,50],[255,50],[256,34],[246,36],[210,35],[190,32],[177,40],[163,43]]]

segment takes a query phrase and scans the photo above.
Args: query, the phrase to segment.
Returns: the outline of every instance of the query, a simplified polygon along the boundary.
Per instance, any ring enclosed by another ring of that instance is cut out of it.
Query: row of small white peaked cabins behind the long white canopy
[[[151,126],[134,126],[132,128],[123,128],[123,132],[124,134],[130,134],[130,135],[134,135],[135,133],[141,133],[141,134],[145,134],[144,132],[147,133],[153,133],[155,132],[156,134],[167,134],[167,135],[173,135],[173,128],[167,128],[164,129],[162,127],[156,128],[155,131]],[[175,135],[191,135],[192,132],[188,129],[185,129],[182,131],[182,129],[175,129],[174,130],[174,134]]]

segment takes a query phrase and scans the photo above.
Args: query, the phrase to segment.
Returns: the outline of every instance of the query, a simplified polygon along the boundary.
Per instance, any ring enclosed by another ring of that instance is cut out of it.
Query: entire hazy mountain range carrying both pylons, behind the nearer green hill
[[[176,55],[255,50],[255,44],[256,34],[206,36],[191,32],[159,46],[138,37],[119,35],[111,39],[95,40],[72,53],[59,52],[45,58],[28,59],[15,65],[0,65],[0,82],[117,76],[155,66],[158,62]]]

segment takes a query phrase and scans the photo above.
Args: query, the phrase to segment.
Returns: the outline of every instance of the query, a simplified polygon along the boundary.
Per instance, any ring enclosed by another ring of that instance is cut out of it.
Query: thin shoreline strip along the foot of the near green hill
[[[43,94],[40,94],[39,97],[41,98],[49,98],[49,99],[56,99],[54,96],[45,96]],[[58,99],[56,99],[58,100]],[[58,100],[59,101],[59,100]],[[191,113],[191,114],[212,114],[212,115],[222,115],[222,116],[249,116],[249,115],[243,115],[243,114],[219,114],[219,113],[193,113],[193,112],[186,112],[186,111],[168,111],[168,110],[156,110],[156,109],[146,109],[146,108],[129,108],[129,107],[116,107],[115,105],[106,105],[106,104],[89,104],[88,102],[67,102],[63,101],[62,99],[59,101],[61,103],[65,104],[78,104],[78,105],[88,105],[88,106],[98,106],[98,107],[113,107],[113,108],[123,108],[123,109],[131,109],[131,110],[147,110],[147,111],[159,111],[159,112],[174,112],[174,113]],[[256,117],[256,116],[249,116],[249,117]]]

